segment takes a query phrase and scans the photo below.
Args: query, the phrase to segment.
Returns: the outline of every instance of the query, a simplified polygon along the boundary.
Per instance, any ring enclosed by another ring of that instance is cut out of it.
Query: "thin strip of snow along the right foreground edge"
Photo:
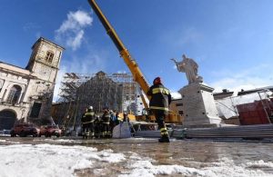
[[[124,172],[119,177],[138,177],[138,176],[155,176],[155,175],[170,175],[170,174],[181,174],[183,176],[241,176],[241,177],[256,177],[256,176],[273,176],[272,173],[262,171],[257,168],[272,167],[272,162],[248,162],[235,164],[233,160],[227,158],[220,159],[220,162],[213,162],[208,167],[204,168],[192,168],[185,167],[182,165],[156,165],[148,160],[138,160],[136,154],[133,154],[133,158],[127,164],[127,169],[131,171]],[[252,169],[249,169],[251,167]]]

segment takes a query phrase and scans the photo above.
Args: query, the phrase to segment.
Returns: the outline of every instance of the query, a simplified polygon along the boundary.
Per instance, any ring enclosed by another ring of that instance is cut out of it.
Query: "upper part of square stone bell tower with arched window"
[[[64,47],[40,37],[32,46],[32,54],[25,69],[39,79],[55,84]]]

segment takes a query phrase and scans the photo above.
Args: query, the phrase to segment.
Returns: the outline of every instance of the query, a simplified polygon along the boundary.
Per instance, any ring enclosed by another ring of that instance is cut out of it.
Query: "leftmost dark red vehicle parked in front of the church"
[[[33,123],[15,123],[14,127],[10,131],[11,137],[19,135],[20,137],[25,137],[28,135],[38,136],[40,134],[40,129],[38,129]]]

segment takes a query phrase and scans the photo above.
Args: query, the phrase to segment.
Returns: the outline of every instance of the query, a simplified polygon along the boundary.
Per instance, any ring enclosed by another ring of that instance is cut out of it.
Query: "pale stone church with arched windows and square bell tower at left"
[[[0,130],[16,121],[50,121],[56,75],[64,48],[40,37],[25,68],[0,61]]]

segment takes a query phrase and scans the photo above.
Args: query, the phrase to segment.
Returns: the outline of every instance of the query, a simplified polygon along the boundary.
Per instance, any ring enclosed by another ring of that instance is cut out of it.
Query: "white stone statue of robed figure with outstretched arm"
[[[203,77],[197,74],[198,64],[191,58],[187,58],[185,54],[182,55],[183,60],[177,62],[175,58],[171,60],[177,64],[178,72],[186,73],[188,84],[203,83]]]

